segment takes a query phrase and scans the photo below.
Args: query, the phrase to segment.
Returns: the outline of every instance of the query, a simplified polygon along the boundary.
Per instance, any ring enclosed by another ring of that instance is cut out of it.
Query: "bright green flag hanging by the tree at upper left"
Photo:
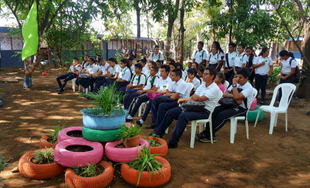
[[[37,3],[30,9],[26,21],[21,29],[24,38],[24,46],[21,52],[21,59],[24,60],[29,56],[37,53],[39,34],[38,34],[38,21],[37,21]]]

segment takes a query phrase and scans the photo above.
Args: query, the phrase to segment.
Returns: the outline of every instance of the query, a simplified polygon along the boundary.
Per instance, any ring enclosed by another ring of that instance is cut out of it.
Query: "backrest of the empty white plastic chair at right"
[[[293,97],[293,94],[296,90],[296,86],[290,83],[284,83],[277,85],[273,90],[272,99],[269,106],[273,106],[276,98],[277,91],[281,88],[282,90],[282,98],[280,100],[279,107],[287,109]]]

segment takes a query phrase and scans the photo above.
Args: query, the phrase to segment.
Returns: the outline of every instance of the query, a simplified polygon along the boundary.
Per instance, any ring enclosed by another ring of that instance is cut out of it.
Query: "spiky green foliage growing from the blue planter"
[[[101,88],[97,93],[82,93],[79,96],[86,96],[94,99],[95,107],[88,108],[84,112],[96,116],[112,116],[118,114],[124,114],[125,111],[122,107],[119,107],[119,101],[123,100],[126,95],[117,90],[117,85],[114,82],[110,84],[106,89]]]

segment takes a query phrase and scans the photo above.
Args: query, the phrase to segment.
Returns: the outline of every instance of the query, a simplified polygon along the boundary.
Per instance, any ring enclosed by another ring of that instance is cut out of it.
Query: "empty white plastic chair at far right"
[[[280,100],[279,106],[274,107],[273,104],[275,102],[276,94],[280,88],[282,89],[282,98]],[[296,86],[294,84],[285,83],[285,84],[277,85],[273,90],[273,95],[272,95],[272,99],[271,99],[269,106],[263,105],[259,108],[254,127],[256,127],[260,111],[261,110],[268,111],[270,112],[269,134],[272,134],[273,127],[276,127],[277,115],[280,113],[284,113],[285,114],[285,131],[287,132],[288,131],[288,107],[289,107],[289,104],[291,102],[291,99],[293,97],[295,90],[296,90]]]

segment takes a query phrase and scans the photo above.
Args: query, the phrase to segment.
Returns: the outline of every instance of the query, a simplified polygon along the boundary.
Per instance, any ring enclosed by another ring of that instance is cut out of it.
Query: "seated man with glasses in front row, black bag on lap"
[[[170,126],[173,120],[177,120],[172,136],[167,142],[168,148],[177,147],[180,137],[182,136],[187,124],[192,120],[208,119],[210,110],[217,101],[216,98],[221,92],[218,86],[213,82],[215,79],[216,70],[214,67],[207,67],[203,73],[203,81],[205,84],[199,86],[195,94],[190,98],[181,98],[178,103],[188,100],[203,101],[205,103],[205,110],[200,112],[185,111],[183,112],[180,106],[174,107],[167,111],[165,117],[161,120],[159,127],[150,135],[156,134],[163,137],[165,130]]]

